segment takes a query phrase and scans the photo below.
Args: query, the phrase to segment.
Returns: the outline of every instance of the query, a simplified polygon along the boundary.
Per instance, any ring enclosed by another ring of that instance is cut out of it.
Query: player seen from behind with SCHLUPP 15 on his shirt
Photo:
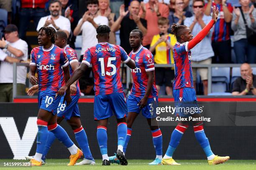
[[[127,134],[127,105],[120,78],[121,61],[134,69],[135,62],[119,45],[109,43],[110,28],[100,25],[97,29],[98,44],[84,52],[81,65],[75,70],[73,76],[65,86],[59,89],[61,95],[69,85],[77,81],[84,71],[92,64],[94,75],[94,118],[97,120],[97,140],[102,154],[102,165],[110,165],[107,150],[107,124],[108,118],[115,114],[118,122],[118,150],[117,158],[121,165],[127,165],[123,154]]]

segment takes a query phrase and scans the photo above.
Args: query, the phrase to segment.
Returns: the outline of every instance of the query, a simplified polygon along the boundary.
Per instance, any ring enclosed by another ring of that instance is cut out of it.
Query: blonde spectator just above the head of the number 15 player
[[[98,15],[105,16],[108,18],[108,26],[111,27],[113,23],[115,22],[115,13],[111,13],[111,9],[109,7],[109,0],[99,0],[99,11]],[[109,39],[110,44],[116,44],[116,39],[115,39],[115,32],[111,30],[110,32],[110,39]]]

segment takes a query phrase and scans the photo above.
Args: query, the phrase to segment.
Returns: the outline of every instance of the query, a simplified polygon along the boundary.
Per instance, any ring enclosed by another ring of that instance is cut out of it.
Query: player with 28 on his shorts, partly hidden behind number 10
[[[56,40],[55,45],[63,50],[67,54],[67,58],[69,60],[69,72],[70,75],[73,75],[74,70],[79,67],[79,62],[77,60],[77,52],[67,45],[67,34],[64,31],[56,32]],[[61,79],[63,79],[64,74],[62,74]],[[64,83],[64,80],[62,80]],[[38,91],[38,85],[32,86],[28,89],[28,95],[32,96],[35,92]],[[59,102],[59,107],[57,110],[57,124],[59,125],[63,119],[67,120],[67,123],[71,126],[72,130],[74,130],[74,134],[79,144],[79,147],[82,149],[84,154],[84,160],[76,165],[95,165],[95,160],[92,158],[92,154],[88,145],[87,135],[82,127],[80,121],[80,112],[78,108],[78,100],[80,97],[80,89],[79,82],[75,81],[72,85],[70,85],[70,93],[72,102],[67,106],[67,103],[63,103],[64,96],[61,97],[61,101]],[[46,147],[44,149],[44,153],[42,156],[42,163],[45,163],[46,155],[55,140],[55,135],[49,132],[48,140],[46,143]],[[31,160],[33,157],[26,156],[26,159]]]

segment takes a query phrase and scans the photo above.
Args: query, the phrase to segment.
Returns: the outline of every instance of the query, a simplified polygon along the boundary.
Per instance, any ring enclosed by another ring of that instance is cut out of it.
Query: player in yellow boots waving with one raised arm
[[[219,10],[215,9],[215,6],[212,9],[212,20],[203,28],[197,36],[193,39],[193,35],[191,34],[191,30],[185,25],[172,25],[172,32],[177,37],[177,42],[173,47],[174,51],[174,66],[175,66],[175,79],[173,82],[173,96],[175,106],[178,107],[176,114],[180,117],[179,124],[172,132],[171,141],[169,143],[169,147],[162,159],[162,165],[180,165],[174,161],[172,155],[174,150],[179,145],[179,141],[182,138],[183,133],[187,130],[190,122],[188,121],[188,117],[192,117],[194,121],[192,121],[192,125],[195,132],[195,137],[197,141],[200,143],[201,147],[205,151],[207,156],[207,160],[209,165],[216,165],[220,163],[224,163],[229,160],[229,156],[220,157],[218,155],[214,155],[210,148],[210,144],[208,138],[205,135],[203,129],[203,122],[200,121],[199,117],[200,112],[198,111],[197,105],[197,97],[195,94],[195,90],[193,87],[193,77],[192,77],[192,67],[191,67],[191,52],[190,50],[195,47],[210,31],[212,26],[215,24],[218,18]],[[182,112],[179,108],[197,108],[194,110],[195,112],[187,113]],[[195,114],[194,114],[195,113]]]

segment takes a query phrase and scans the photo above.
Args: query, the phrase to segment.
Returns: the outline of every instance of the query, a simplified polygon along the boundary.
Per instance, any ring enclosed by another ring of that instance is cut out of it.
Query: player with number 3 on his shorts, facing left
[[[143,33],[141,30],[135,29],[131,31],[129,41],[133,50],[130,52],[129,57],[135,60],[136,68],[131,69],[133,87],[127,99],[127,137],[123,152],[126,153],[126,148],[131,138],[133,122],[142,111],[142,115],[146,117],[150,127],[156,150],[156,159],[148,165],[161,165],[163,142],[162,133],[156,121],[158,92],[155,84],[154,56],[141,45],[142,40]],[[115,156],[110,157],[110,162],[114,162],[114,160]]]

